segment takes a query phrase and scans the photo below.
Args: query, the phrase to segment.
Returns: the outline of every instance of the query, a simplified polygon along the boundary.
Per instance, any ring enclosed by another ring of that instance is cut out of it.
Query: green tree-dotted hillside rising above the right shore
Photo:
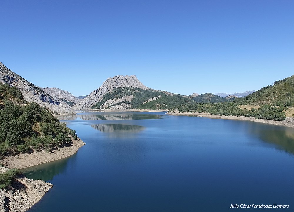
[[[193,100],[198,101],[194,97]],[[201,97],[201,99],[204,99]],[[213,99],[212,99],[213,100]],[[209,112],[211,115],[247,116],[256,119],[285,120],[294,116],[294,75],[283,80],[278,80],[273,85],[268,85],[246,97],[231,98],[230,102],[210,103],[200,102],[194,104],[181,104],[173,108],[179,112]],[[256,106],[251,110],[242,109],[242,105]]]

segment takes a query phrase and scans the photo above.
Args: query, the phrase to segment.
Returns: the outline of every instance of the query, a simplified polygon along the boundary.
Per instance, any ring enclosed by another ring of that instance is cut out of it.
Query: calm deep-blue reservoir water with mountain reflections
[[[164,112],[60,120],[86,145],[69,158],[24,170],[54,184],[31,212],[294,211],[292,128]]]

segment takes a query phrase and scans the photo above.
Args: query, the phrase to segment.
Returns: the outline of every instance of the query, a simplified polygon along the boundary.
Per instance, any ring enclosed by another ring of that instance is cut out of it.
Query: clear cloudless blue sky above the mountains
[[[294,1],[1,0],[0,61],[87,95],[115,75],[190,95],[294,74]]]

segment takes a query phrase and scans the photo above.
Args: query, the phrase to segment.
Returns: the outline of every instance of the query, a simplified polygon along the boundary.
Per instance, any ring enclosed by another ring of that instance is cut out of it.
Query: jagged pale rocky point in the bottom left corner
[[[8,169],[0,167],[0,172]],[[31,208],[52,188],[43,180],[30,180],[20,174],[9,189],[0,189],[0,211],[23,212]]]

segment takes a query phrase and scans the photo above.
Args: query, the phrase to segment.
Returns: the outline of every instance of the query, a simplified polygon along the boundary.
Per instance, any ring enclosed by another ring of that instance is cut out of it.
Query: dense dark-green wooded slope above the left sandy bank
[[[77,139],[76,132],[35,102],[27,103],[20,90],[0,84],[0,155],[33,150],[50,151]]]

